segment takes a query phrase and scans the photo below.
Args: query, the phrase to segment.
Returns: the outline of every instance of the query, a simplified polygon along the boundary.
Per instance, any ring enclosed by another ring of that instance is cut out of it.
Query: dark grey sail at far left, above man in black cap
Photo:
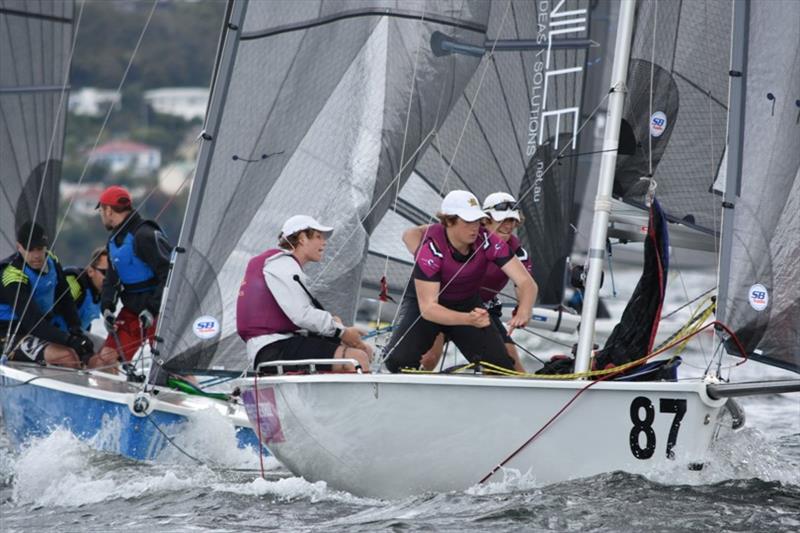
[[[55,233],[73,8],[0,0],[0,258],[34,215]]]

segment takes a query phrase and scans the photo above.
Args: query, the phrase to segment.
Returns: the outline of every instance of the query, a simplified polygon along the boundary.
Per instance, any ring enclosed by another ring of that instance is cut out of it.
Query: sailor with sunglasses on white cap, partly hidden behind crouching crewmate
[[[483,211],[487,215],[487,218],[484,219],[483,226],[508,244],[511,253],[519,258],[520,262],[522,262],[522,266],[524,266],[525,270],[530,274],[532,268],[530,256],[527,250],[522,246],[519,238],[514,235],[514,231],[524,220],[522,214],[519,212],[516,199],[506,192],[492,193],[483,201]],[[419,243],[422,242],[425,231],[429,227],[430,226],[417,226],[403,233],[403,242],[412,254],[416,254]],[[517,346],[502,322],[503,308],[498,299],[498,294],[507,284],[508,275],[495,263],[489,263],[483,275],[483,281],[481,282],[480,296],[483,307],[489,312],[489,318],[492,324],[497,328],[497,331],[500,332],[500,336],[503,337],[508,355],[514,360],[514,370],[517,372],[524,372],[525,367],[522,366],[522,362],[519,359]],[[533,288],[533,300],[536,301],[536,295],[539,289],[535,281],[533,283]],[[422,367],[424,369],[432,370],[436,367],[442,355],[443,344],[444,335],[440,334],[436,337],[436,341],[431,349],[422,356]]]

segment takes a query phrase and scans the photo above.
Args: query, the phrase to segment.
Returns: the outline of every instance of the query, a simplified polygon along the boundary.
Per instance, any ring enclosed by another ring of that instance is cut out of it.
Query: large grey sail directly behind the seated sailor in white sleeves
[[[384,193],[408,179],[409,161],[478,64],[435,56],[431,36],[482,44],[488,9],[462,0],[232,2],[157,362],[246,367],[234,314],[245,266],[299,213],[335,227],[324,261],[308,269],[309,288],[352,319],[368,237],[392,199]]]

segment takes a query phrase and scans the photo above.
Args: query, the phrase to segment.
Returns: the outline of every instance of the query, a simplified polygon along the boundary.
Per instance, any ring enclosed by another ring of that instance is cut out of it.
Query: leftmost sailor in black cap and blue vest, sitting
[[[17,252],[0,261],[0,339],[9,359],[79,368],[94,352],[80,327],[58,258],[36,223],[17,232]]]

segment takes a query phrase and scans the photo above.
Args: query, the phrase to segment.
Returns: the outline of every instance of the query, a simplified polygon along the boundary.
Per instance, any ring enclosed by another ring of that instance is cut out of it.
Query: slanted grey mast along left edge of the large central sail
[[[245,12],[247,11],[247,2],[248,0],[229,0],[226,9],[227,16],[225,19],[225,26],[223,27],[224,35],[220,38],[217,64],[214,67],[211,83],[212,92],[209,99],[208,111],[206,112],[205,129],[203,129],[200,134],[203,145],[198,155],[197,168],[195,170],[194,181],[192,182],[192,189],[189,193],[189,201],[183,218],[183,224],[181,225],[181,233],[178,237],[178,245],[175,247],[175,252],[172,254],[170,274],[161,297],[159,317],[162,319],[158,321],[158,329],[156,331],[157,344],[152,351],[153,365],[151,366],[149,378],[151,383],[158,383],[159,379],[163,377],[161,366],[164,364],[164,358],[159,354],[158,346],[161,344],[159,339],[162,338],[161,328],[164,323],[163,317],[165,311],[168,311],[169,286],[172,281],[172,273],[175,271],[175,265],[180,261],[186,260],[185,252],[190,247],[192,239],[194,238],[195,221],[198,211],[200,210],[200,204],[202,203],[201,199],[205,193],[209,167],[211,166],[211,157],[216,147],[214,140],[222,120],[222,110],[228,95],[231,72],[233,72],[233,65],[236,62],[236,52],[239,48],[241,28],[244,22]]]

